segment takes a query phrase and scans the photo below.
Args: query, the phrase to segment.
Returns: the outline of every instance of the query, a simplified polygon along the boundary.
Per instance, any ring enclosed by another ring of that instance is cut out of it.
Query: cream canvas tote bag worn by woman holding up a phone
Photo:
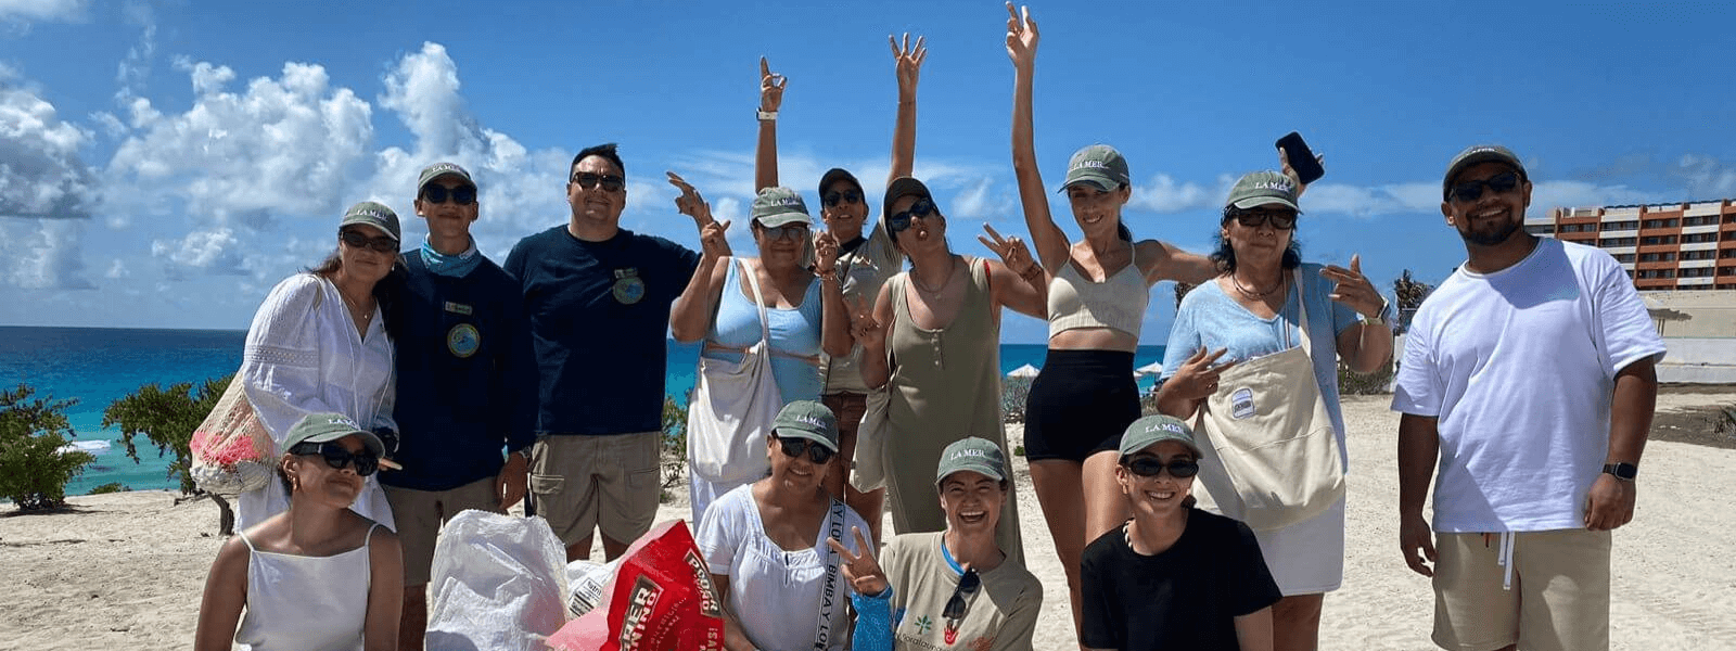
[[[1338,437],[1307,354],[1307,292],[1302,274],[1292,271],[1290,278],[1302,316],[1300,345],[1226,370],[1194,420],[1201,439],[1194,496],[1201,509],[1255,531],[1305,521],[1344,496]]]

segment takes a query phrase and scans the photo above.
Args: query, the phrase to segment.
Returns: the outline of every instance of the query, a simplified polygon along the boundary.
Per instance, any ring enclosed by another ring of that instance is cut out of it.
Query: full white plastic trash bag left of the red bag
[[[429,651],[542,649],[566,625],[566,547],[542,517],[460,512],[429,585]]]

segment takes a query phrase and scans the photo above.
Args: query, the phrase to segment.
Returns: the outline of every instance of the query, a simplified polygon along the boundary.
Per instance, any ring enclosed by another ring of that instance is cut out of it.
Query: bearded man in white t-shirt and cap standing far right
[[[1524,231],[1512,151],[1462,151],[1441,189],[1469,260],[1411,321],[1392,398],[1399,543],[1434,576],[1434,642],[1608,649],[1609,531],[1634,517],[1663,339],[1609,253]]]

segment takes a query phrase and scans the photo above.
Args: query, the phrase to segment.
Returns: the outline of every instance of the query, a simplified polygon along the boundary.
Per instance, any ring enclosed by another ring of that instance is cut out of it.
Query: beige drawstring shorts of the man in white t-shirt
[[[1488,651],[1609,649],[1609,531],[1514,533],[1512,589],[1502,589],[1500,533],[1441,533],[1434,644]]]

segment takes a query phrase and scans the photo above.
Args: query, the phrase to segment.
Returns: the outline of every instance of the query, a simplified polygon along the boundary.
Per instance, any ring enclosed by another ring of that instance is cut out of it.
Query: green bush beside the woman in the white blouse
[[[156,448],[158,457],[174,458],[168,464],[168,477],[181,481],[181,495],[205,495],[193,483],[193,431],[205,422],[205,417],[217,406],[224,389],[234,373],[210,378],[194,385],[193,382],[172,384],[167,389],[156,382],[146,384],[102,410],[102,427],[118,427],[127,457],[139,462],[139,446]],[[144,441],[139,441],[144,439]],[[212,495],[219,509],[220,535],[234,533],[234,512],[229,502]]]

